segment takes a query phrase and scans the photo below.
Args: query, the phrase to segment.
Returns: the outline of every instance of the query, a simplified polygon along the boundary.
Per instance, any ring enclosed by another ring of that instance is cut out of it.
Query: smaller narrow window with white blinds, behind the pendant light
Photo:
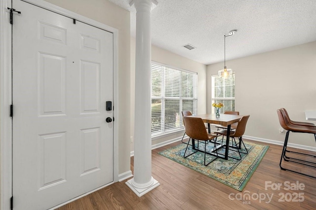
[[[230,77],[212,76],[212,104],[222,103],[224,107],[220,109],[224,111],[235,111],[235,72]],[[212,113],[215,113],[212,108]]]

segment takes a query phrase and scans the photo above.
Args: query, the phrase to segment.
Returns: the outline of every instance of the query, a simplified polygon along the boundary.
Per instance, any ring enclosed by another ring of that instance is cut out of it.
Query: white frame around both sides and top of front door
[[[24,1],[113,33],[113,104],[118,108],[118,30],[44,0]],[[6,210],[10,209],[12,196],[12,120],[9,110],[12,101],[12,40],[9,11],[6,9],[11,8],[11,0],[0,0],[0,6],[0,209]],[[113,182],[117,182],[118,111],[113,112],[113,117],[116,119],[113,126]]]

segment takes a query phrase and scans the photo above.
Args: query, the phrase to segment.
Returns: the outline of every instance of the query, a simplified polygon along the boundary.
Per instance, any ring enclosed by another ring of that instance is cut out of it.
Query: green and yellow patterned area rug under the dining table
[[[161,151],[159,154],[204,174],[207,177],[220,181],[238,191],[242,191],[269,148],[269,146],[250,142],[245,143],[245,146],[248,150],[248,154],[241,153],[241,160],[232,158],[239,157],[238,152],[234,151],[236,150],[234,148],[229,150],[230,157],[228,160],[206,154],[206,162],[215,159],[208,166],[204,166],[204,152],[198,151],[184,158],[183,154],[187,147],[186,144],[180,144],[168,150]],[[212,150],[213,147],[213,143],[208,143],[206,151]],[[243,147],[241,148],[240,151],[245,152],[245,149],[243,149]],[[199,143],[199,149],[204,151],[203,143]],[[193,152],[193,150],[192,147],[189,146],[186,154],[190,154],[191,152]],[[219,149],[218,153],[224,154],[224,148]]]

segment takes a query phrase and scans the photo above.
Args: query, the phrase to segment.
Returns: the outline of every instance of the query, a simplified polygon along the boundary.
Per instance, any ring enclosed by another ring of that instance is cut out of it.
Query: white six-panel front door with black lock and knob
[[[44,210],[113,181],[113,34],[12,6],[13,206]]]

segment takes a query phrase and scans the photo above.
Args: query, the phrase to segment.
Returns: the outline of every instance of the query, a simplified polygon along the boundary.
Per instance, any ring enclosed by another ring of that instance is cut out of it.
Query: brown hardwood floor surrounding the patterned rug
[[[244,140],[247,141],[249,140]],[[256,142],[269,145],[270,148],[243,191],[239,192],[158,154],[159,151],[180,143],[152,150],[152,175],[160,186],[142,197],[135,195],[124,180],[57,210],[315,209],[316,179],[280,170],[278,164],[282,146]],[[299,169],[306,171],[303,167]],[[133,171],[133,157],[131,170]],[[309,169],[309,172],[315,176],[316,169]],[[301,185],[297,186],[297,181]],[[279,189],[277,184],[281,184]],[[290,190],[287,190],[288,185],[292,187]],[[299,187],[301,188],[298,189]],[[250,199],[246,200],[247,196]]]

